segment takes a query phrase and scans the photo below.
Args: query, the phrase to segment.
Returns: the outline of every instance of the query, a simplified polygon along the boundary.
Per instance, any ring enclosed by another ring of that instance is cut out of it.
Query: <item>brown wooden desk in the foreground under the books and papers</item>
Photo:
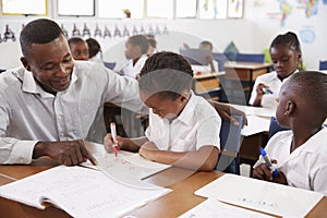
[[[48,158],[43,158],[32,166],[0,166],[0,173],[22,179],[31,174],[49,169],[57,164]],[[180,168],[171,168],[147,179],[155,184],[169,184],[168,187],[173,192],[148,203],[147,205],[132,211],[130,215],[136,217],[177,217],[201,202],[204,197],[195,196],[193,193],[201,186],[211,182],[222,175],[222,172],[196,172]],[[189,177],[189,178],[187,178]],[[12,182],[9,179],[0,175],[0,185]],[[35,187],[37,189],[37,187]],[[39,210],[17,202],[9,201],[0,197],[0,217],[5,218],[66,218],[70,217],[63,210],[56,207],[47,207],[45,210]],[[324,197],[310,214],[308,218],[327,217],[327,197]]]

